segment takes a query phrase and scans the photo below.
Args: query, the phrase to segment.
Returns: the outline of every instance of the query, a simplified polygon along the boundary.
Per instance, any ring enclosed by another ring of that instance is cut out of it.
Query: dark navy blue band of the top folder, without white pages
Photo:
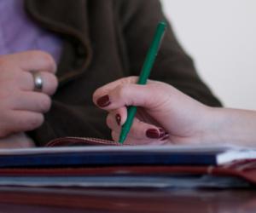
[[[215,154],[191,153],[43,153],[0,156],[0,167],[109,165],[215,165]]]

